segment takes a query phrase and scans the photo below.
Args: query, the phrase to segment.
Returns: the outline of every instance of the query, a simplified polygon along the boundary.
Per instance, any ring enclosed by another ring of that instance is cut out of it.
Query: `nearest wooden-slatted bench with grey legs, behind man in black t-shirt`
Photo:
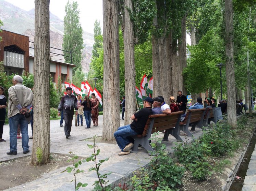
[[[143,146],[148,152],[154,151],[153,148],[149,144],[149,138],[151,134],[158,131],[166,130],[168,135],[171,134],[177,140],[181,140],[179,136],[179,123],[182,111],[173,112],[170,115],[167,114],[157,114],[157,115],[149,115],[146,125],[144,127],[144,131],[142,135],[132,136],[134,138],[134,144],[131,152],[138,152],[138,146]],[[175,128],[174,128],[175,127]],[[165,134],[166,134],[165,133]]]

